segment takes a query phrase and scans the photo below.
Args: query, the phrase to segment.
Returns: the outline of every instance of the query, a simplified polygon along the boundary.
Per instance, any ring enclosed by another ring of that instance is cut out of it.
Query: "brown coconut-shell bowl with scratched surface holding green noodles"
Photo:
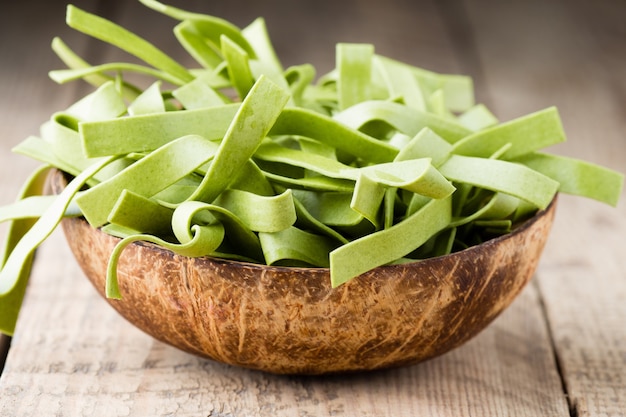
[[[64,186],[56,173],[53,188]],[[186,258],[135,243],[119,263],[128,321],[184,351],[278,374],[415,364],[487,326],[531,279],[556,202],[512,233],[461,252],[383,266],[338,288],[329,271]],[[119,239],[82,218],[62,222],[85,275],[104,296]]]

